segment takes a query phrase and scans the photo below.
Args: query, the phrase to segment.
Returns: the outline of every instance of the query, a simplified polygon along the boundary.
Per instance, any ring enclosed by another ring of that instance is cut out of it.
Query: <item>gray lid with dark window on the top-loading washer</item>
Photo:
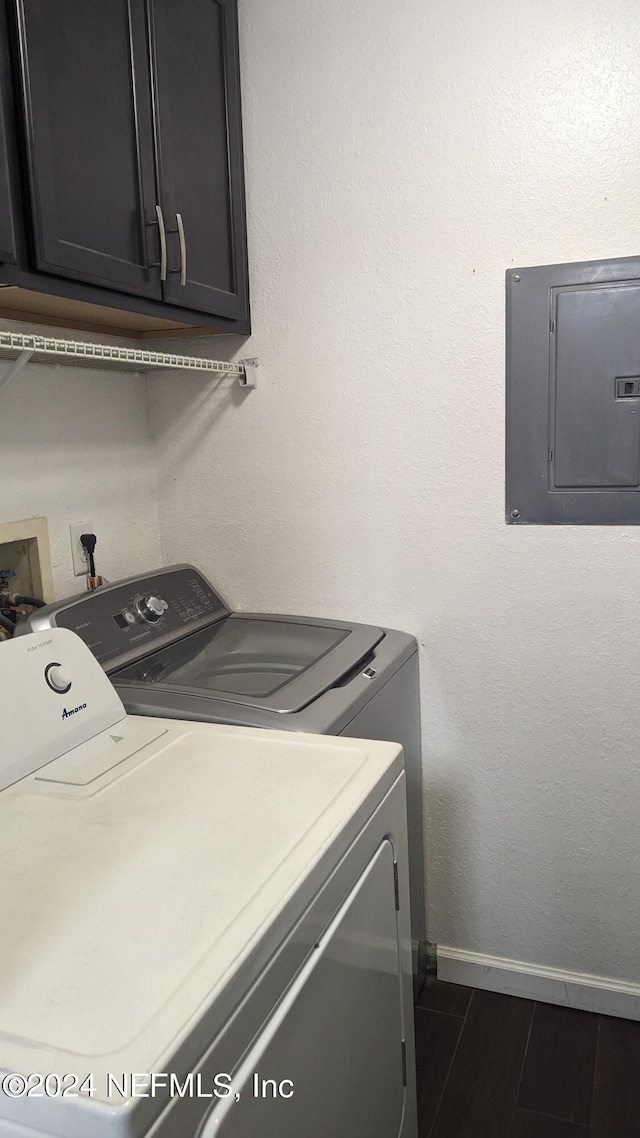
[[[112,674],[118,687],[153,685],[266,711],[300,711],[374,650],[381,628],[304,617],[235,613]],[[162,714],[162,712],[161,712]]]

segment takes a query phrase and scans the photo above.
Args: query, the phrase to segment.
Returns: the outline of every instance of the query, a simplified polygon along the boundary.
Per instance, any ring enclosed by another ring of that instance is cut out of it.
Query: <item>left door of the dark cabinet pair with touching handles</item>
[[[16,0],[35,267],[161,298],[143,0]]]

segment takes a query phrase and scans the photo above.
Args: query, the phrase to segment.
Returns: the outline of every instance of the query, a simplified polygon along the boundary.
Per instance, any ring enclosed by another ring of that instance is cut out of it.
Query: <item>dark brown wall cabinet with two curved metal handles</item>
[[[2,278],[248,332],[236,0],[9,0],[7,56]]]

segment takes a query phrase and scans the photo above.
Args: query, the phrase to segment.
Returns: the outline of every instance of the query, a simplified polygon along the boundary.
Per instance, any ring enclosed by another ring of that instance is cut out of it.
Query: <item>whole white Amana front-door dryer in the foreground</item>
[[[416,1138],[402,751],[0,646],[1,1138]]]

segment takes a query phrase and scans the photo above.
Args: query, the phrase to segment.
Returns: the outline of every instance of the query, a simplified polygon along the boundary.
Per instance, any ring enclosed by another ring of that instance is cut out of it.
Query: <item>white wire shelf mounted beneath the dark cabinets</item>
[[[199,356],[173,355],[169,352],[145,352],[112,344],[90,344],[52,336],[23,336],[0,332],[0,360],[14,360],[13,368],[0,378],[0,394],[6,390],[25,363],[76,364],[83,368],[114,368],[118,371],[198,371],[237,377],[243,387],[255,387],[256,360],[225,363]]]

